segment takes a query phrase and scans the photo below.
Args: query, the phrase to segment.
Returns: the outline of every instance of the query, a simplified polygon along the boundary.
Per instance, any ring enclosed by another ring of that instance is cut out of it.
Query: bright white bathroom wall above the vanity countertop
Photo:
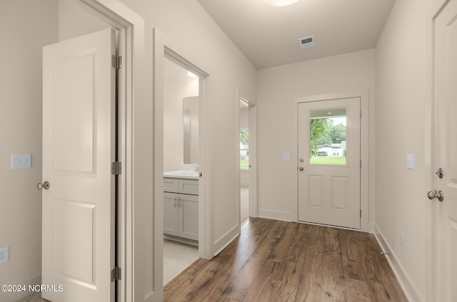
[[[164,171],[166,172],[179,170],[179,164],[184,163],[183,99],[199,95],[199,78],[189,77],[184,68],[169,60],[164,62],[164,73]]]

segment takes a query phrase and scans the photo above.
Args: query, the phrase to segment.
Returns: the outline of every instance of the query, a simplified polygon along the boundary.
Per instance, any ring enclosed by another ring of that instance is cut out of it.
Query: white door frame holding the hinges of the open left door
[[[122,56],[122,68],[119,70],[119,158],[124,169],[119,175],[119,266],[122,278],[119,282],[119,300],[136,301],[134,298],[135,276],[139,275],[141,261],[134,261],[137,248],[136,230],[134,229],[135,188],[132,178],[139,163],[134,161],[134,110],[141,110],[136,104],[144,95],[142,64],[144,57],[144,20],[119,0],[72,0],[76,5],[104,21],[119,31],[119,56]],[[138,135],[136,135],[138,136]],[[135,165],[135,166],[134,166]],[[134,266],[136,265],[136,267]],[[139,283],[137,282],[137,285]]]

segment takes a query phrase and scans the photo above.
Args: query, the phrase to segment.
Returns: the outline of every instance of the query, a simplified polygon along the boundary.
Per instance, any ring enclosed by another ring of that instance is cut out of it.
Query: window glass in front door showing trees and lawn
[[[311,165],[346,165],[346,143],[346,108],[311,110]]]

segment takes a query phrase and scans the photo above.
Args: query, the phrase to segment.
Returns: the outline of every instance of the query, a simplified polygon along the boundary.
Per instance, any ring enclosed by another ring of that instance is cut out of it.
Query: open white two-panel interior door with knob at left
[[[111,301],[115,31],[44,47],[42,284],[51,301]]]

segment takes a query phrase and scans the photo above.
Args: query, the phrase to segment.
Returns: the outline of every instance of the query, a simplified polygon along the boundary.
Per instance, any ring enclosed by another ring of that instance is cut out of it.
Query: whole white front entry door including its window
[[[360,229],[360,98],[298,103],[298,221]]]

